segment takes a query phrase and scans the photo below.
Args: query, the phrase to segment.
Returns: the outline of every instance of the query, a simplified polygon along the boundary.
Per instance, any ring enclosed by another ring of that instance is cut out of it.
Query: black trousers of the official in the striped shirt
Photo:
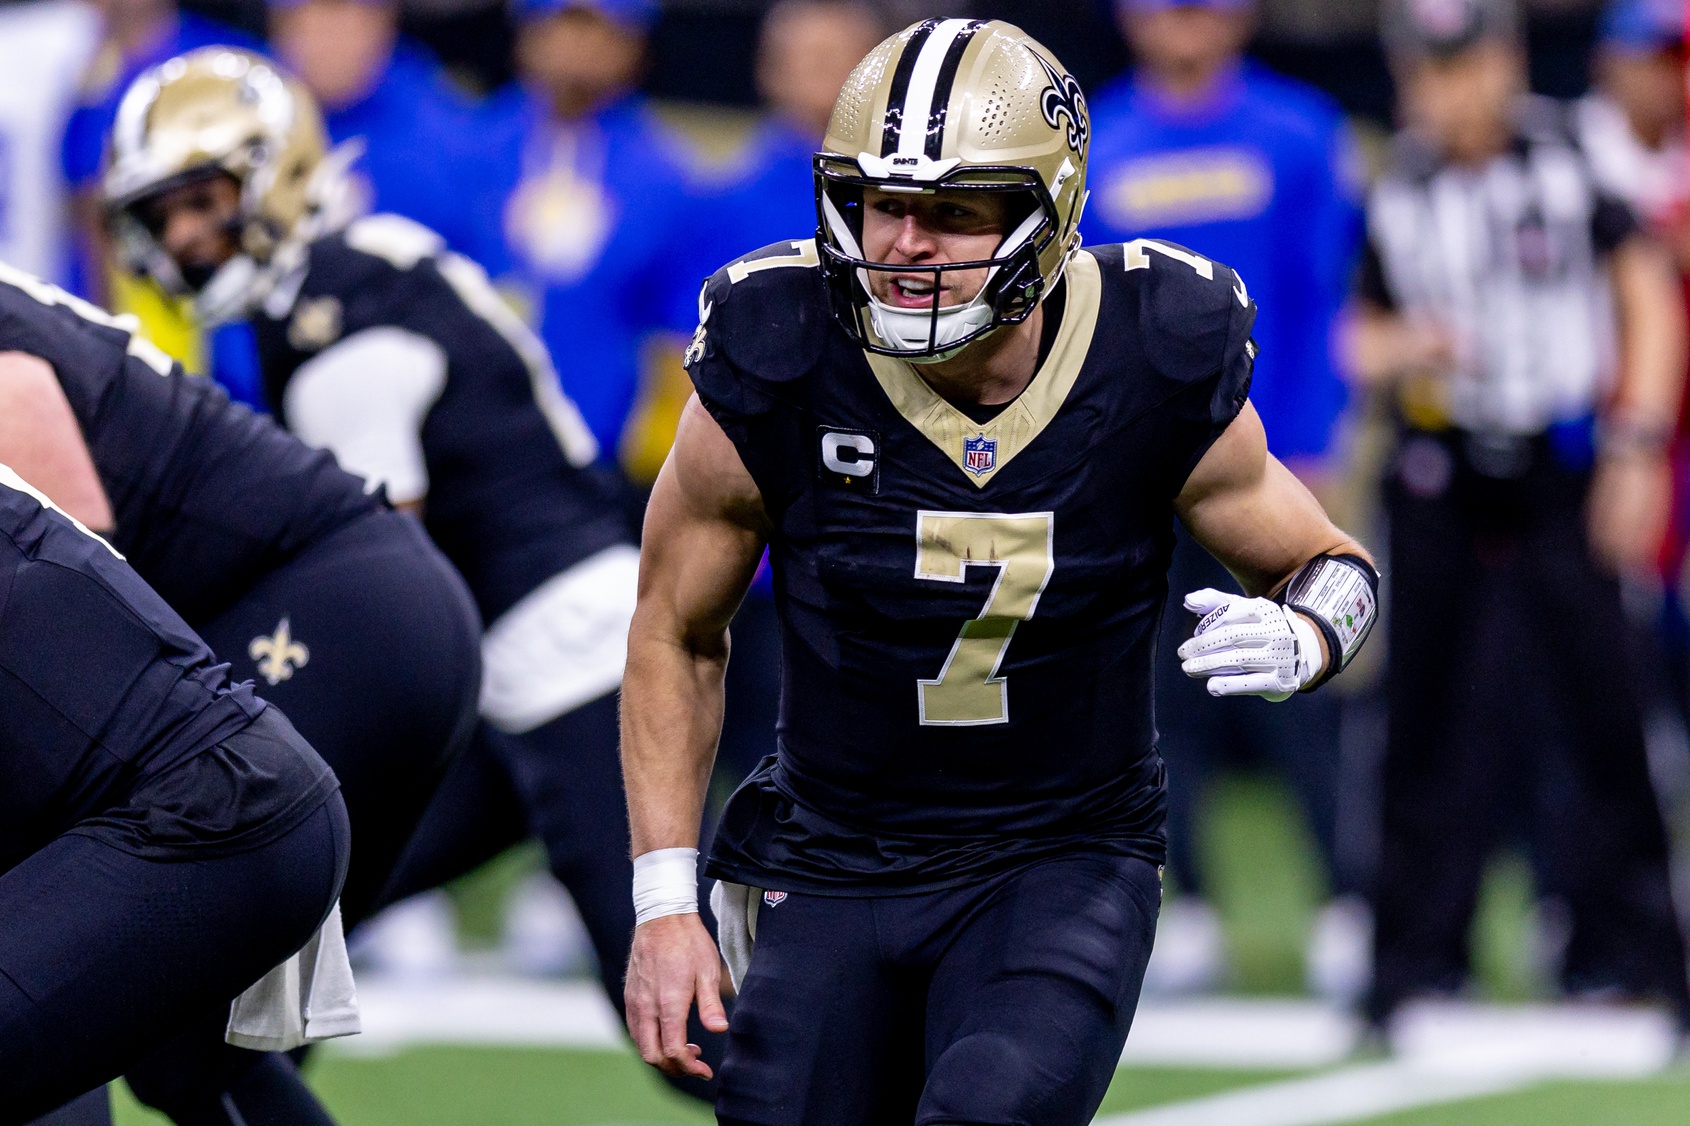
[[[1589,473],[1538,443],[1519,477],[1486,477],[1464,438],[1428,435],[1399,467],[1369,1014],[1465,982],[1486,862],[1536,810],[1540,867],[1573,916],[1565,977],[1690,1016],[1619,583],[1585,538]]]

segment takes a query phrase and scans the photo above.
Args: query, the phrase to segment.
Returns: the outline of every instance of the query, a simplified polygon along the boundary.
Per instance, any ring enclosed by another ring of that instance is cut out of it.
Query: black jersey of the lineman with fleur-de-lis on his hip
[[[112,544],[189,624],[380,504],[333,456],[186,375],[128,321],[10,267],[0,352],[52,365],[112,502]]]

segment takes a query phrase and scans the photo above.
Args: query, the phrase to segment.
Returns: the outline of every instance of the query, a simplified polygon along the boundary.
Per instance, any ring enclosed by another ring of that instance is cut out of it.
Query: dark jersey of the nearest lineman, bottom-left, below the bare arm
[[[0,871],[262,710],[110,546],[0,468]]]

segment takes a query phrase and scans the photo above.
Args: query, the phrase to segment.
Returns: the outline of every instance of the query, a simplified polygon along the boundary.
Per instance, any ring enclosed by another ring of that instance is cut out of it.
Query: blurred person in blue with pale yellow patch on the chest
[[[532,289],[564,392],[619,450],[654,331],[691,333],[708,216],[676,142],[634,93],[651,0],[524,0],[521,83],[490,100],[473,254]]]

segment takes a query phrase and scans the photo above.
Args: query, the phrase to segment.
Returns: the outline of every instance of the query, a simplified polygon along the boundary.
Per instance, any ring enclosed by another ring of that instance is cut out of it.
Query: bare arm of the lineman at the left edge
[[[83,526],[112,531],[112,502],[59,377],[25,352],[0,352],[0,463]]]

